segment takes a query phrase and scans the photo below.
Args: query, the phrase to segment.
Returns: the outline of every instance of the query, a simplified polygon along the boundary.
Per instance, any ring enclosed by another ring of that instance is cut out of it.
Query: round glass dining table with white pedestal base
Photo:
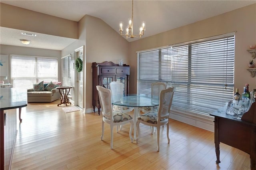
[[[140,107],[154,107],[159,105],[159,97],[145,94],[127,94],[112,96],[112,104],[119,106],[134,107],[134,140],[136,139],[136,122],[140,115]]]

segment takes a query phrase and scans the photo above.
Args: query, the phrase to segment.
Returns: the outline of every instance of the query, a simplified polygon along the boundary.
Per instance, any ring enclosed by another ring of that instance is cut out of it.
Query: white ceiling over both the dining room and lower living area
[[[1,3],[77,22],[88,14],[102,19],[118,33],[119,22],[128,24],[132,15],[131,0],[1,0]],[[134,0],[134,34],[142,21],[146,23],[142,36],[145,38],[254,3],[256,0]],[[20,32],[26,30],[0,27],[0,44],[62,50],[75,41],[38,33],[34,33],[36,37],[24,38]],[[31,43],[23,45],[20,39],[29,39]]]

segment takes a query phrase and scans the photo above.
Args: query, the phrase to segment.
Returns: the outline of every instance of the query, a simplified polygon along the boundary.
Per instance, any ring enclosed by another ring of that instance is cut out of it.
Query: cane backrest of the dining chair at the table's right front
[[[174,91],[175,91],[175,87],[169,87],[160,92],[157,122],[160,123],[161,119],[169,118]]]

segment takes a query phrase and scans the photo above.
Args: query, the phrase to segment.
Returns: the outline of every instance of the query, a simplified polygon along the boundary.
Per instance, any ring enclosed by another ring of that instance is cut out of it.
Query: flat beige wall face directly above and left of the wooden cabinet
[[[93,62],[102,63],[124,59],[129,64],[129,43],[108,24],[92,16],[86,16],[86,109],[92,108],[92,71]]]

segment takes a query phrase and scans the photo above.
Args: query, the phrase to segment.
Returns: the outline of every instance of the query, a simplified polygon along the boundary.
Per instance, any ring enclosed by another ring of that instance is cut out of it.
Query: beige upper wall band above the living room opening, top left
[[[0,3],[0,26],[78,39],[78,22]]]

